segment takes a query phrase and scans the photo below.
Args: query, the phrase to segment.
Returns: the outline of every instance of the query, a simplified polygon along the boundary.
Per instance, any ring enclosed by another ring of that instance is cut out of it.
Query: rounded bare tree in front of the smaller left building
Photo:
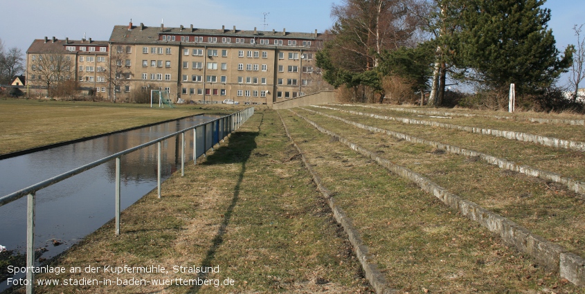
[[[37,78],[31,79],[30,82],[46,86],[48,97],[51,97],[51,91],[55,87],[75,79],[71,55],[48,52],[33,55],[31,59],[30,68]]]

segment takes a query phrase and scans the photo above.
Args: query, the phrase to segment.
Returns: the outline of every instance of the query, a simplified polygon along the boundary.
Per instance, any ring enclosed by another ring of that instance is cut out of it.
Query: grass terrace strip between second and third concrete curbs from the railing
[[[367,134],[345,124],[341,127],[337,121],[304,113],[323,127],[423,174],[464,199],[557,241],[577,255],[585,255],[585,199],[562,185],[503,171],[465,156],[444,154],[431,146],[397,142],[384,134]]]

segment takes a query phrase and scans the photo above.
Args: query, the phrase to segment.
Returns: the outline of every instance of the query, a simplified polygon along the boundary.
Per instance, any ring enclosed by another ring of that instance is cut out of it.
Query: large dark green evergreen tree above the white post
[[[519,93],[548,88],[572,62],[573,47],[562,58],[548,29],[545,0],[451,0],[460,8],[460,33],[453,38],[467,78]]]

